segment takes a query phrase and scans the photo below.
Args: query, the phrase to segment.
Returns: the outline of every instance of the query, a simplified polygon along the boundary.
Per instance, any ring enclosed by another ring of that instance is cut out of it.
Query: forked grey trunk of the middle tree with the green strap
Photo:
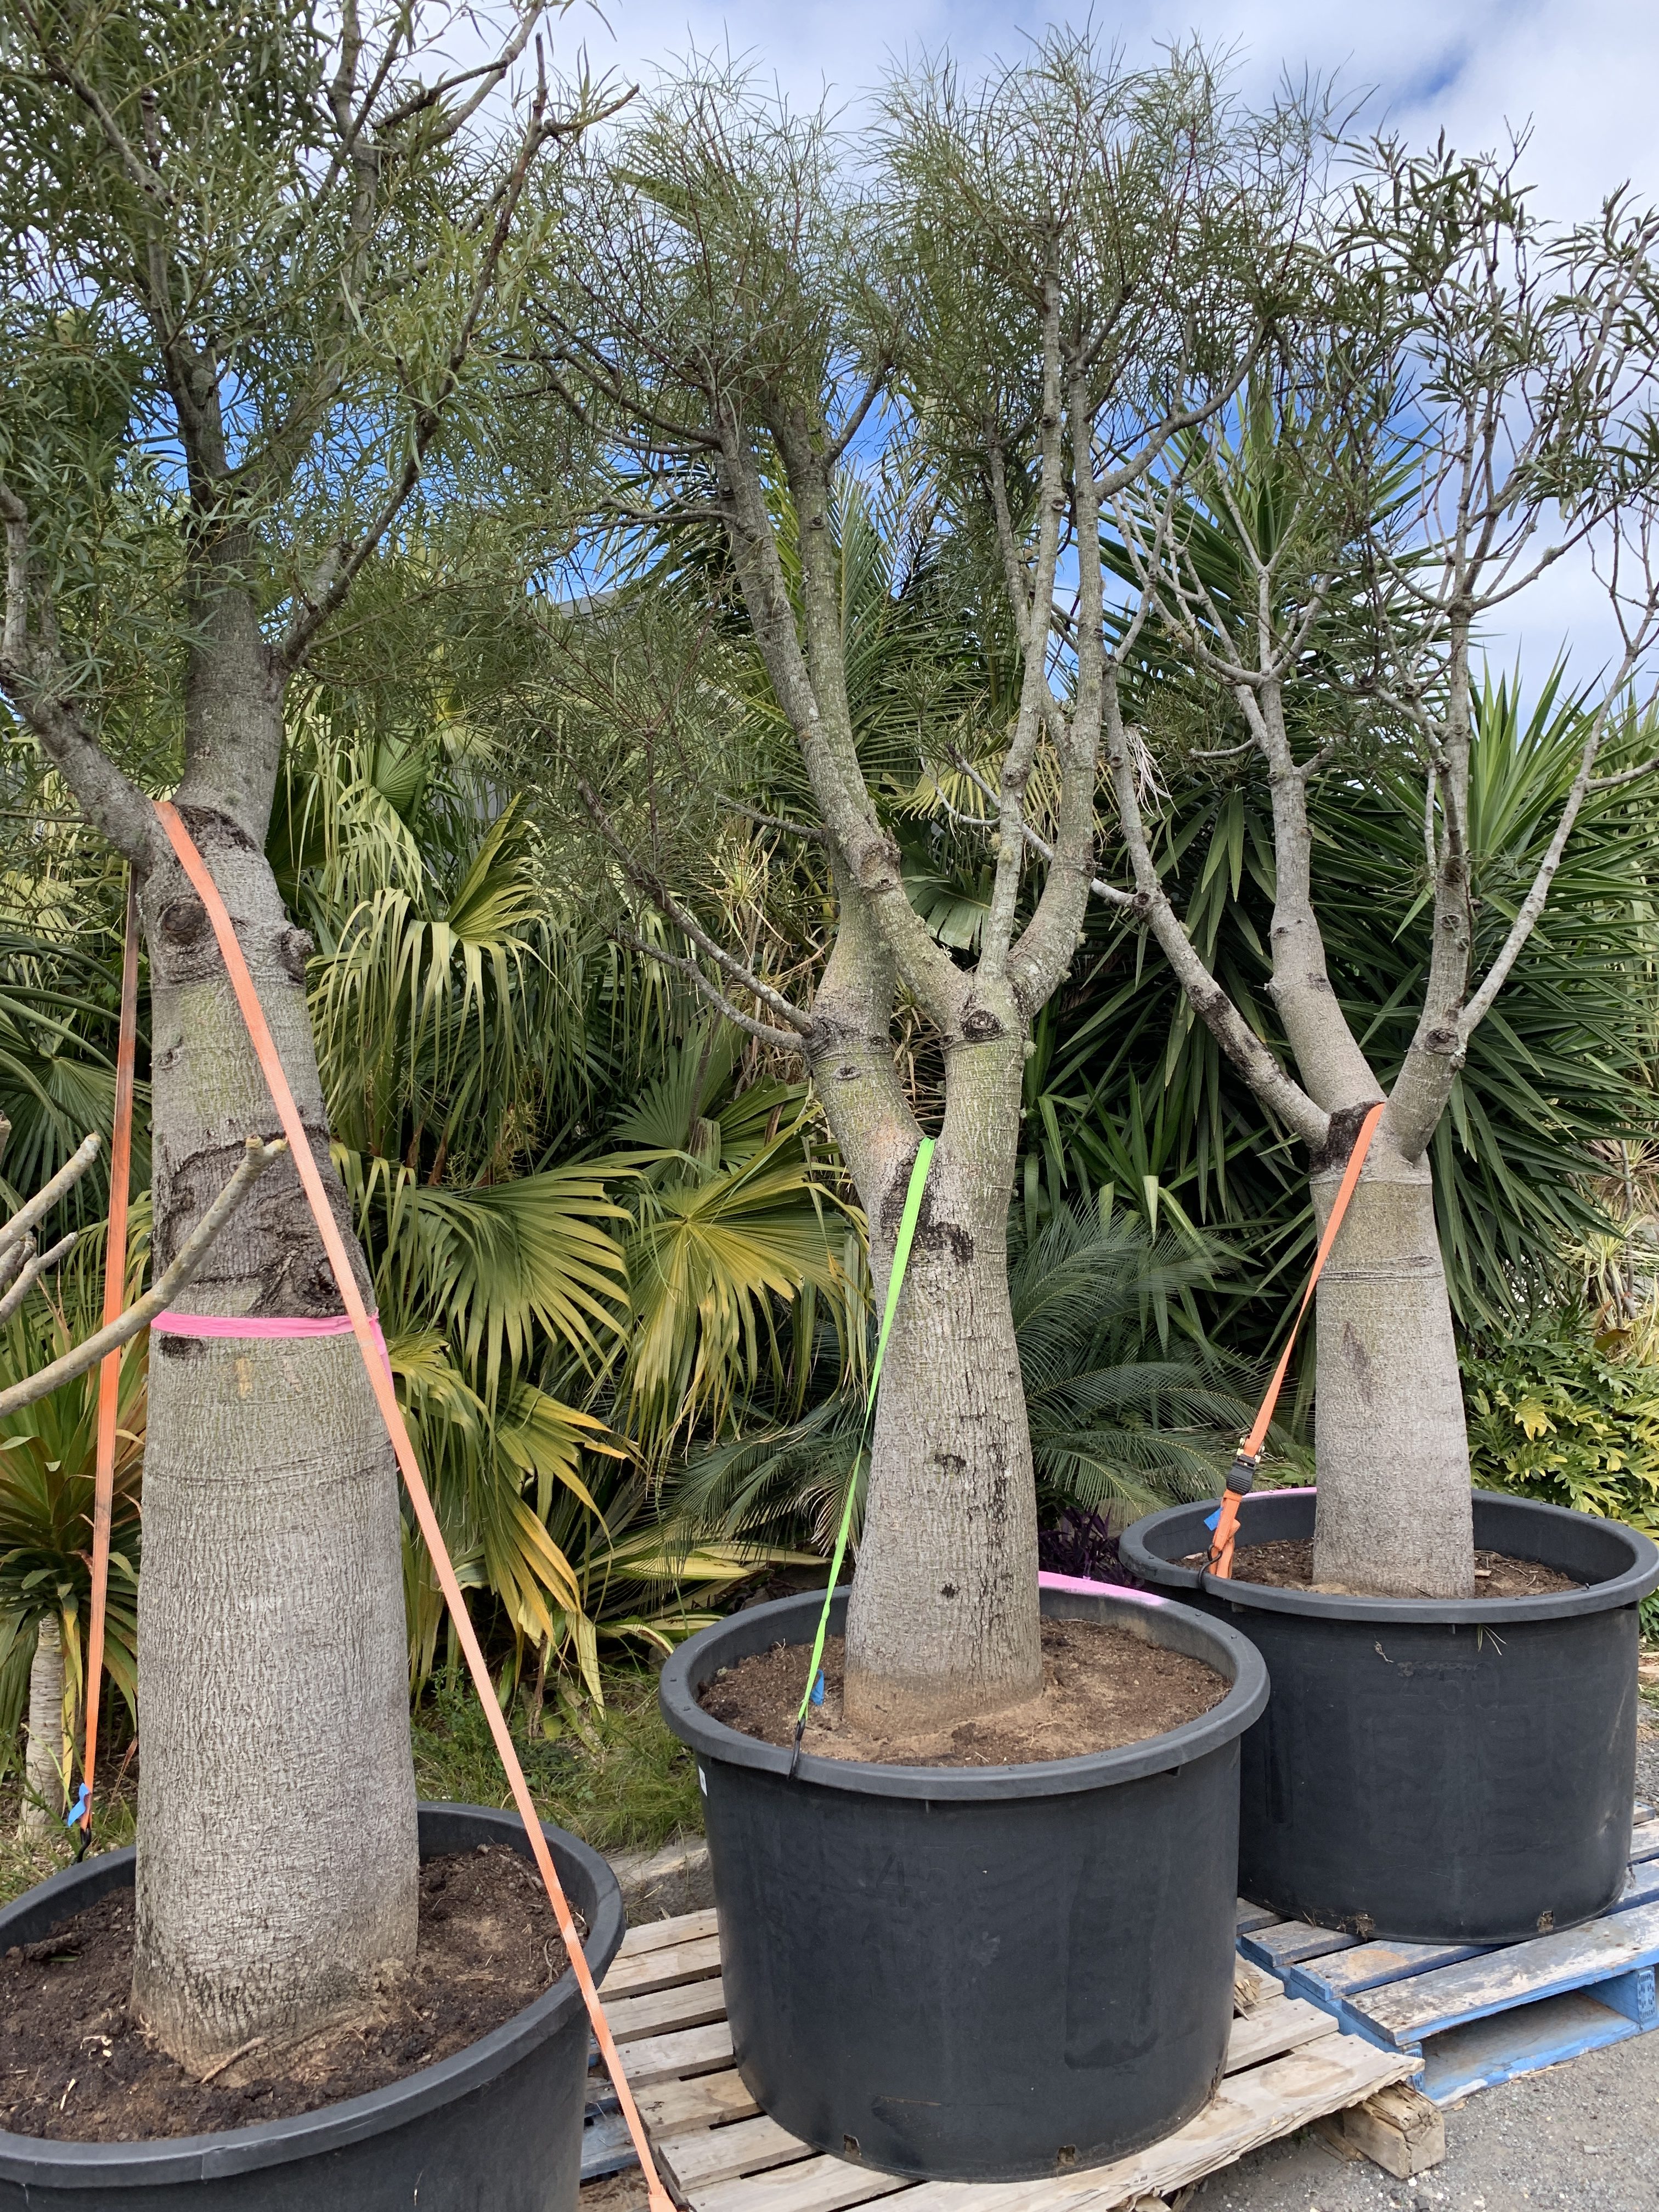
[[[998,1011],[980,1009],[991,1035],[949,1046],[945,1126],[883,1365],[847,1610],[847,1714],[865,1728],[942,1728],[1042,1690],[1037,1500],[1006,1245],[1024,1024],[1002,995]],[[883,1310],[918,1130],[887,1037],[876,1057],[865,1068],[841,1053],[814,1073],[858,1181]]]

